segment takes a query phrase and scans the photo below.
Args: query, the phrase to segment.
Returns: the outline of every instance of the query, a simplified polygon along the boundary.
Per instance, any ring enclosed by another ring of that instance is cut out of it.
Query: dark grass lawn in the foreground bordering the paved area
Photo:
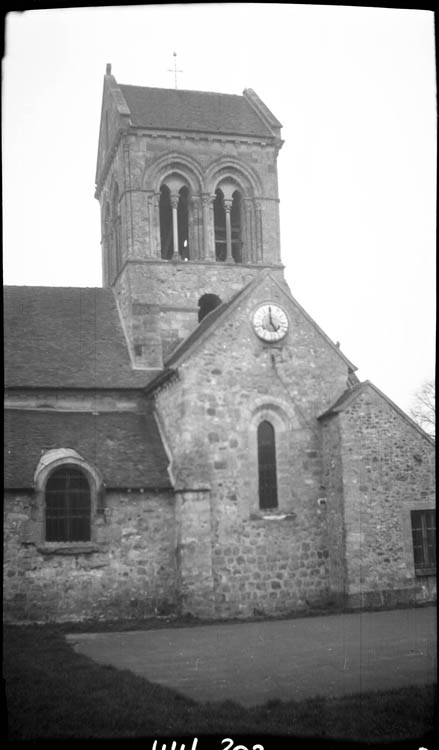
[[[245,735],[267,750],[276,741],[264,743],[264,735],[281,735],[369,743],[423,739],[419,746],[432,747],[431,740],[425,743],[437,726],[433,686],[341,699],[272,701],[256,708],[231,702],[198,704],[131,672],[76,654],[64,639],[66,630],[5,627],[9,741],[216,735],[239,742]]]

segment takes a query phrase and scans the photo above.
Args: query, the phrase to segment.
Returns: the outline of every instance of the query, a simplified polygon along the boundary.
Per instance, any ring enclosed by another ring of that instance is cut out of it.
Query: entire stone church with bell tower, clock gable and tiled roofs
[[[5,289],[7,619],[435,599],[434,441],[291,295],[281,146],[107,66],[103,287]]]

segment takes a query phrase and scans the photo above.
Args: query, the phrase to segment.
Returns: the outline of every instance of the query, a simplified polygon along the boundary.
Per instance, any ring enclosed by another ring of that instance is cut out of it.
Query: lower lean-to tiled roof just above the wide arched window
[[[108,487],[170,487],[149,404],[146,414],[7,409],[4,445],[6,487],[32,487],[41,452],[51,448],[76,450]]]

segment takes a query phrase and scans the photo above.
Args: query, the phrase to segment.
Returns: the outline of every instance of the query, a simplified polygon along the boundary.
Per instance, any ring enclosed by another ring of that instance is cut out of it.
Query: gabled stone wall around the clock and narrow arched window
[[[267,299],[288,311],[282,345],[263,344],[251,315]],[[287,612],[329,596],[329,548],[316,416],[343,392],[347,366],[269,278],[236,307],[156,405],[177,483],[209,484],[216,613]],[[255,431],[276,422],[279,508],[261,512]]]

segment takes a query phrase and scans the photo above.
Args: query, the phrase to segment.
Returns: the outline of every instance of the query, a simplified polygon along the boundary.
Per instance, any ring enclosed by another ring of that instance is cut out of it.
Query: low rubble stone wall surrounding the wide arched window
[[[107,492],[94,551],[82,552],[74,544],[55,553],[54,543],[29,543],[31,500],[30,492],[5,497],[6,620],[109,620],[175,611],[173,494]]]

